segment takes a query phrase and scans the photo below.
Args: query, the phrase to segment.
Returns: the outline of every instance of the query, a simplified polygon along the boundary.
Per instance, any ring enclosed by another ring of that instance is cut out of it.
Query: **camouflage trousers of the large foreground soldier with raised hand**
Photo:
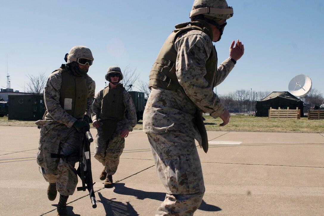
[[[205,192],[193,138],[181,133],[147,133],[157,174],[167,195],[156,215],[193,215]]]

